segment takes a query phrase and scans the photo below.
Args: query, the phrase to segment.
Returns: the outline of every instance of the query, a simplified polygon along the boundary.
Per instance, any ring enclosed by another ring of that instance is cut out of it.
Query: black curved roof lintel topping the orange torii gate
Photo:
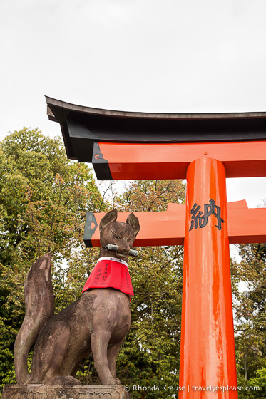
[[[83,107],[46,96],[68,158],[92,162],[94,142],[266,140],[266,113],[139,113]]]

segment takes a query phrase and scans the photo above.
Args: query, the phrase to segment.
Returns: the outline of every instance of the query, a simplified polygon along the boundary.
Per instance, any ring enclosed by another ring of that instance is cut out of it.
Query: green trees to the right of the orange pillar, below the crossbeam
[[[235,291],[237,375],[239,385],[249,386],[266,367],[266,244],[239,247],[242,261],[237,274],[245,290]],[[240,394],[240,398],[247,396],[262,398],[262,393]]]

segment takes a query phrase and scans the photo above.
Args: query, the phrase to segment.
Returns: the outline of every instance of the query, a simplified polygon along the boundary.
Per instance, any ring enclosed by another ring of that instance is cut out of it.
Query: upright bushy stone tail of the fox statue
[[[25,384],[29,379],[29,351],[41,329],[54,313],[51,252],[37,259],[31,266],[26,276],[24,292],[25,318],[14,346],[16,380],[19,384]]]

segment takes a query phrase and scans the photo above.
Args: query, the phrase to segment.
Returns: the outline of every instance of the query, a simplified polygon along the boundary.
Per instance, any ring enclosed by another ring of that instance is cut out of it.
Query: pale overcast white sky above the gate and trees
[[[1,0],[0,30],[0,140],[24,126],[61,135],[44,95],[113,110],[266,111],[265,0]],[[266,178],[228,182],[230,201],[266,199]]]

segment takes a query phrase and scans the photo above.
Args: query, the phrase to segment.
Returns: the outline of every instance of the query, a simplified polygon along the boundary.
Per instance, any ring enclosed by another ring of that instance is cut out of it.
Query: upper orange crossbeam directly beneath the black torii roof
[[[220,160],[226,177],[266,176],[266,141],[126,144],[99,142],[113,180],[185,179],[200,157]]]

